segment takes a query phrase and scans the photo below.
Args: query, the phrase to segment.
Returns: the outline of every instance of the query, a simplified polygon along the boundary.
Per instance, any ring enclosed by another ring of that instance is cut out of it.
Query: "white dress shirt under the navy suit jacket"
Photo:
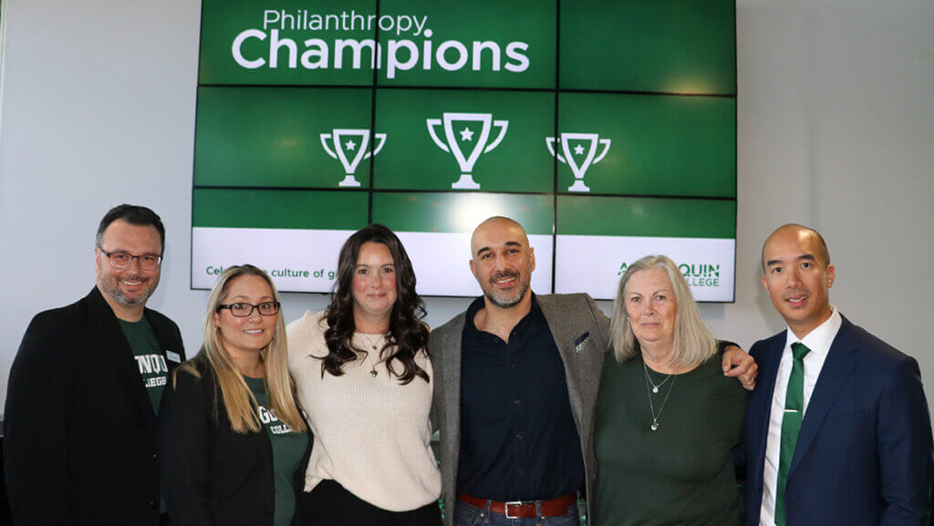
[[[782,351],[782,361],[778,364],[778,375],[775,377],[775,391],[771,396],[771,416],[769,418],[769,436],[765,447],[765,466],[763,471],[762,508],[759,513],[760,526],[775,525],[775,492],[778,487],[778,455],[782,446],[782,417],[785,415],[785,393],[788,391],[788,377],[791,376],[791,365],[794,356],[791,354],[791,344],[800,342],[811,349],[804,357],[804,407],[801,421],[804,420],[811,402],[811,393],[820,370],[827,360],[827,353],[833,338],[840,331],[843,322],[836,307],[830,318],[824,321],[814,331],[798,339],[791,329],[785,331],[785,349]]]

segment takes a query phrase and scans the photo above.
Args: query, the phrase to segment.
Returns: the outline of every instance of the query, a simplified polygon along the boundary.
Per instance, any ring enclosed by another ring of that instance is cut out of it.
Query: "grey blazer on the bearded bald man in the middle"
[[[558,344],[568,383],[574,424],[580,434],[587,491],[596,479],[593,412],[601,368],[609,348],[609,322],[587,294],[535,296]],[[460,343],[466,312],[432,332],[429,350],[434,369],[432,423],[441,433],[440,462],[445,524],[454,523],[455,490],[460,454]],[[586,338],[582,338],[587,334]],[[589,505],[587,505],[589,516]]]

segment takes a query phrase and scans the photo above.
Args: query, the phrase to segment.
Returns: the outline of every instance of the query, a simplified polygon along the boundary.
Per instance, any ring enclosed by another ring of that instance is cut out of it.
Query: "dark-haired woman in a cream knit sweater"
[[[289,368],[315,434],[300,507],[315,526],[441,524],[428,326],[412,263],[371,224],[341,249],[331,305],[289,324]]]

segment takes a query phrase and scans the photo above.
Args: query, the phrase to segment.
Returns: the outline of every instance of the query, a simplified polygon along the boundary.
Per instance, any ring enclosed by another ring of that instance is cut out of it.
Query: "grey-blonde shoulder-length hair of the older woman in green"
[[[613,318],[610,319],[610,339],[617,363],[631,360],[640,354],[639,342],[629,324],[626,312],[626,284],[630,277],[643,270],[660,269],[672,283],[672,293],[678,304],[674,318],[674,343],[671,364],[675,367],[696,367],[716,354],[716,340],[707,330],[698,304],[694,301],[684,275],[667,256],[645,256],[632,263],[619,280]]]

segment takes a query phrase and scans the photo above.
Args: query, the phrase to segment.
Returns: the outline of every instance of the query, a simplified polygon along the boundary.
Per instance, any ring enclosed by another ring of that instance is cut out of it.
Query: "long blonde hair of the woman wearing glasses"
[[[178,367],[172,381],[174,386],[175,375],[179,370],[190,373],[194,377],[201,377],[202,369],[213,373],[216,387],[220,388],[220,395],[227,408],[227,418],[231,421],[231,429],[235,433],[246,434],[258,433],[262,429],[260,417],[257,414],[259,404],[253,393],[249,391],[246,380],[233,363],[230,354],[224,349],[219,327],[214,324],[214,314],[218,312],[218,307],[230,293],[228,285],[233,278],[241,276],[262,277],[269,284],[273,298],[276,302],[279,301],[279,293],[273,285],[273,280],[261,269],[251,264],[228,267],[218,277],[218,281],[207,298],[205,344],[198,351],[197,356]],[[273,339],[266,348],[260,351],[260,360],[265,369],[263,383],[266,392],[269,393],[270,409],[276,414],[276,418],[282,420],[292,431],[301,432],[305,429],[304,420],[295,404],[295,384],[289,375],[289,348],[286,346],[286,326],[280,310],[276,314]],[[215,409],[217,409],[216,401]]]

